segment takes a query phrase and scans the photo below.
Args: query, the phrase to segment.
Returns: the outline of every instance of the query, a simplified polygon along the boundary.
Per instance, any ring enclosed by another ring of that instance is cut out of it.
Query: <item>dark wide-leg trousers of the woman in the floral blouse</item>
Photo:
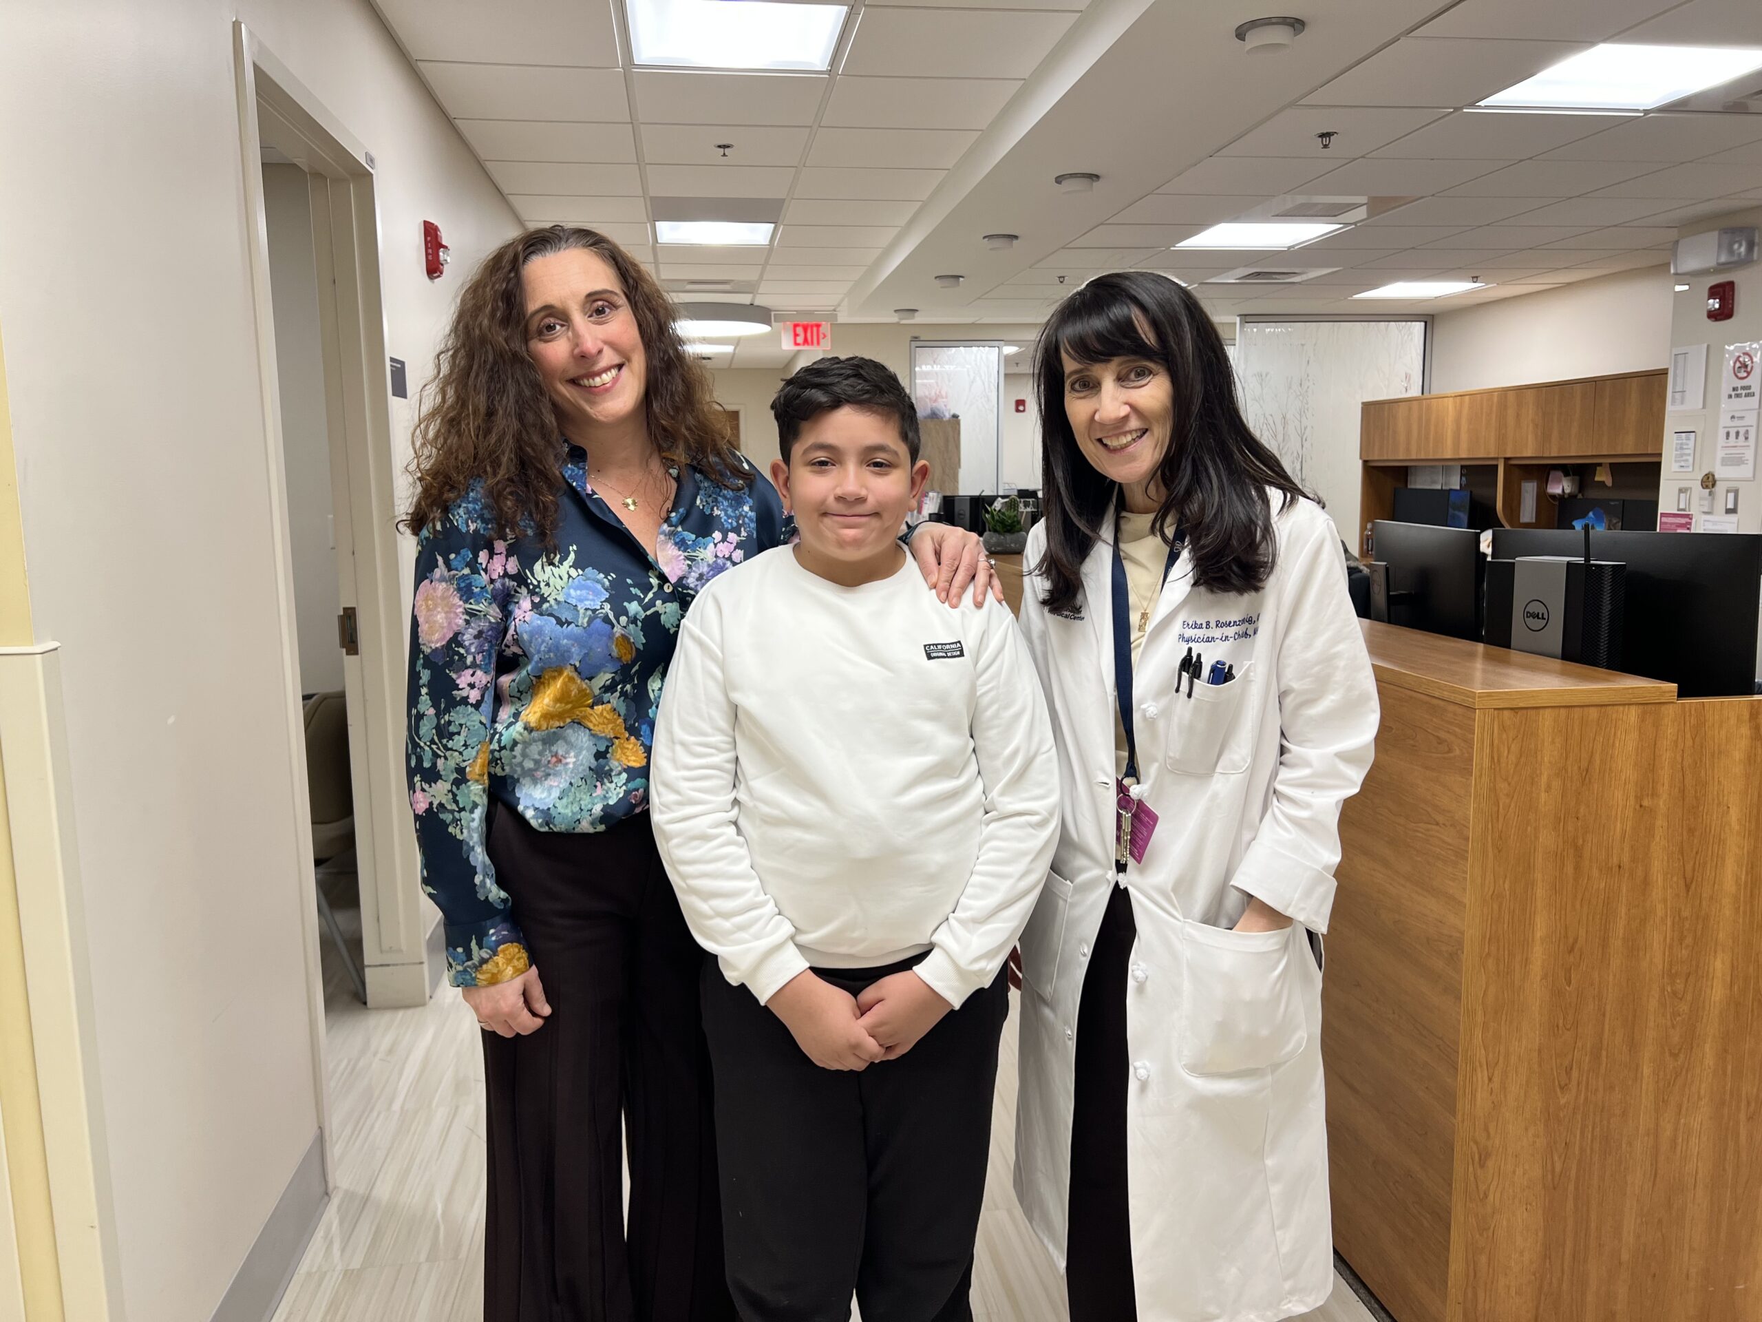
[[[576,836],[492,813],[552,1014],[530,1036],[483,1035],[485,1322],[726,1322],[705,955],[648,816]]]

